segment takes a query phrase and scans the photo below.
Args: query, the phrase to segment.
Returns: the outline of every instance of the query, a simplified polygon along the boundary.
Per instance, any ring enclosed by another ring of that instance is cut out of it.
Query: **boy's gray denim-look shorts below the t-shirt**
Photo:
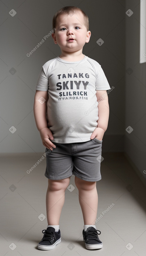
[[[102,141],[94,138],[86,142],[54,144],[55,149],[51,151],[46,148],[45,150],[45,176],[48,179],[62,180],[74,174],[86,181],[101,180]]]

